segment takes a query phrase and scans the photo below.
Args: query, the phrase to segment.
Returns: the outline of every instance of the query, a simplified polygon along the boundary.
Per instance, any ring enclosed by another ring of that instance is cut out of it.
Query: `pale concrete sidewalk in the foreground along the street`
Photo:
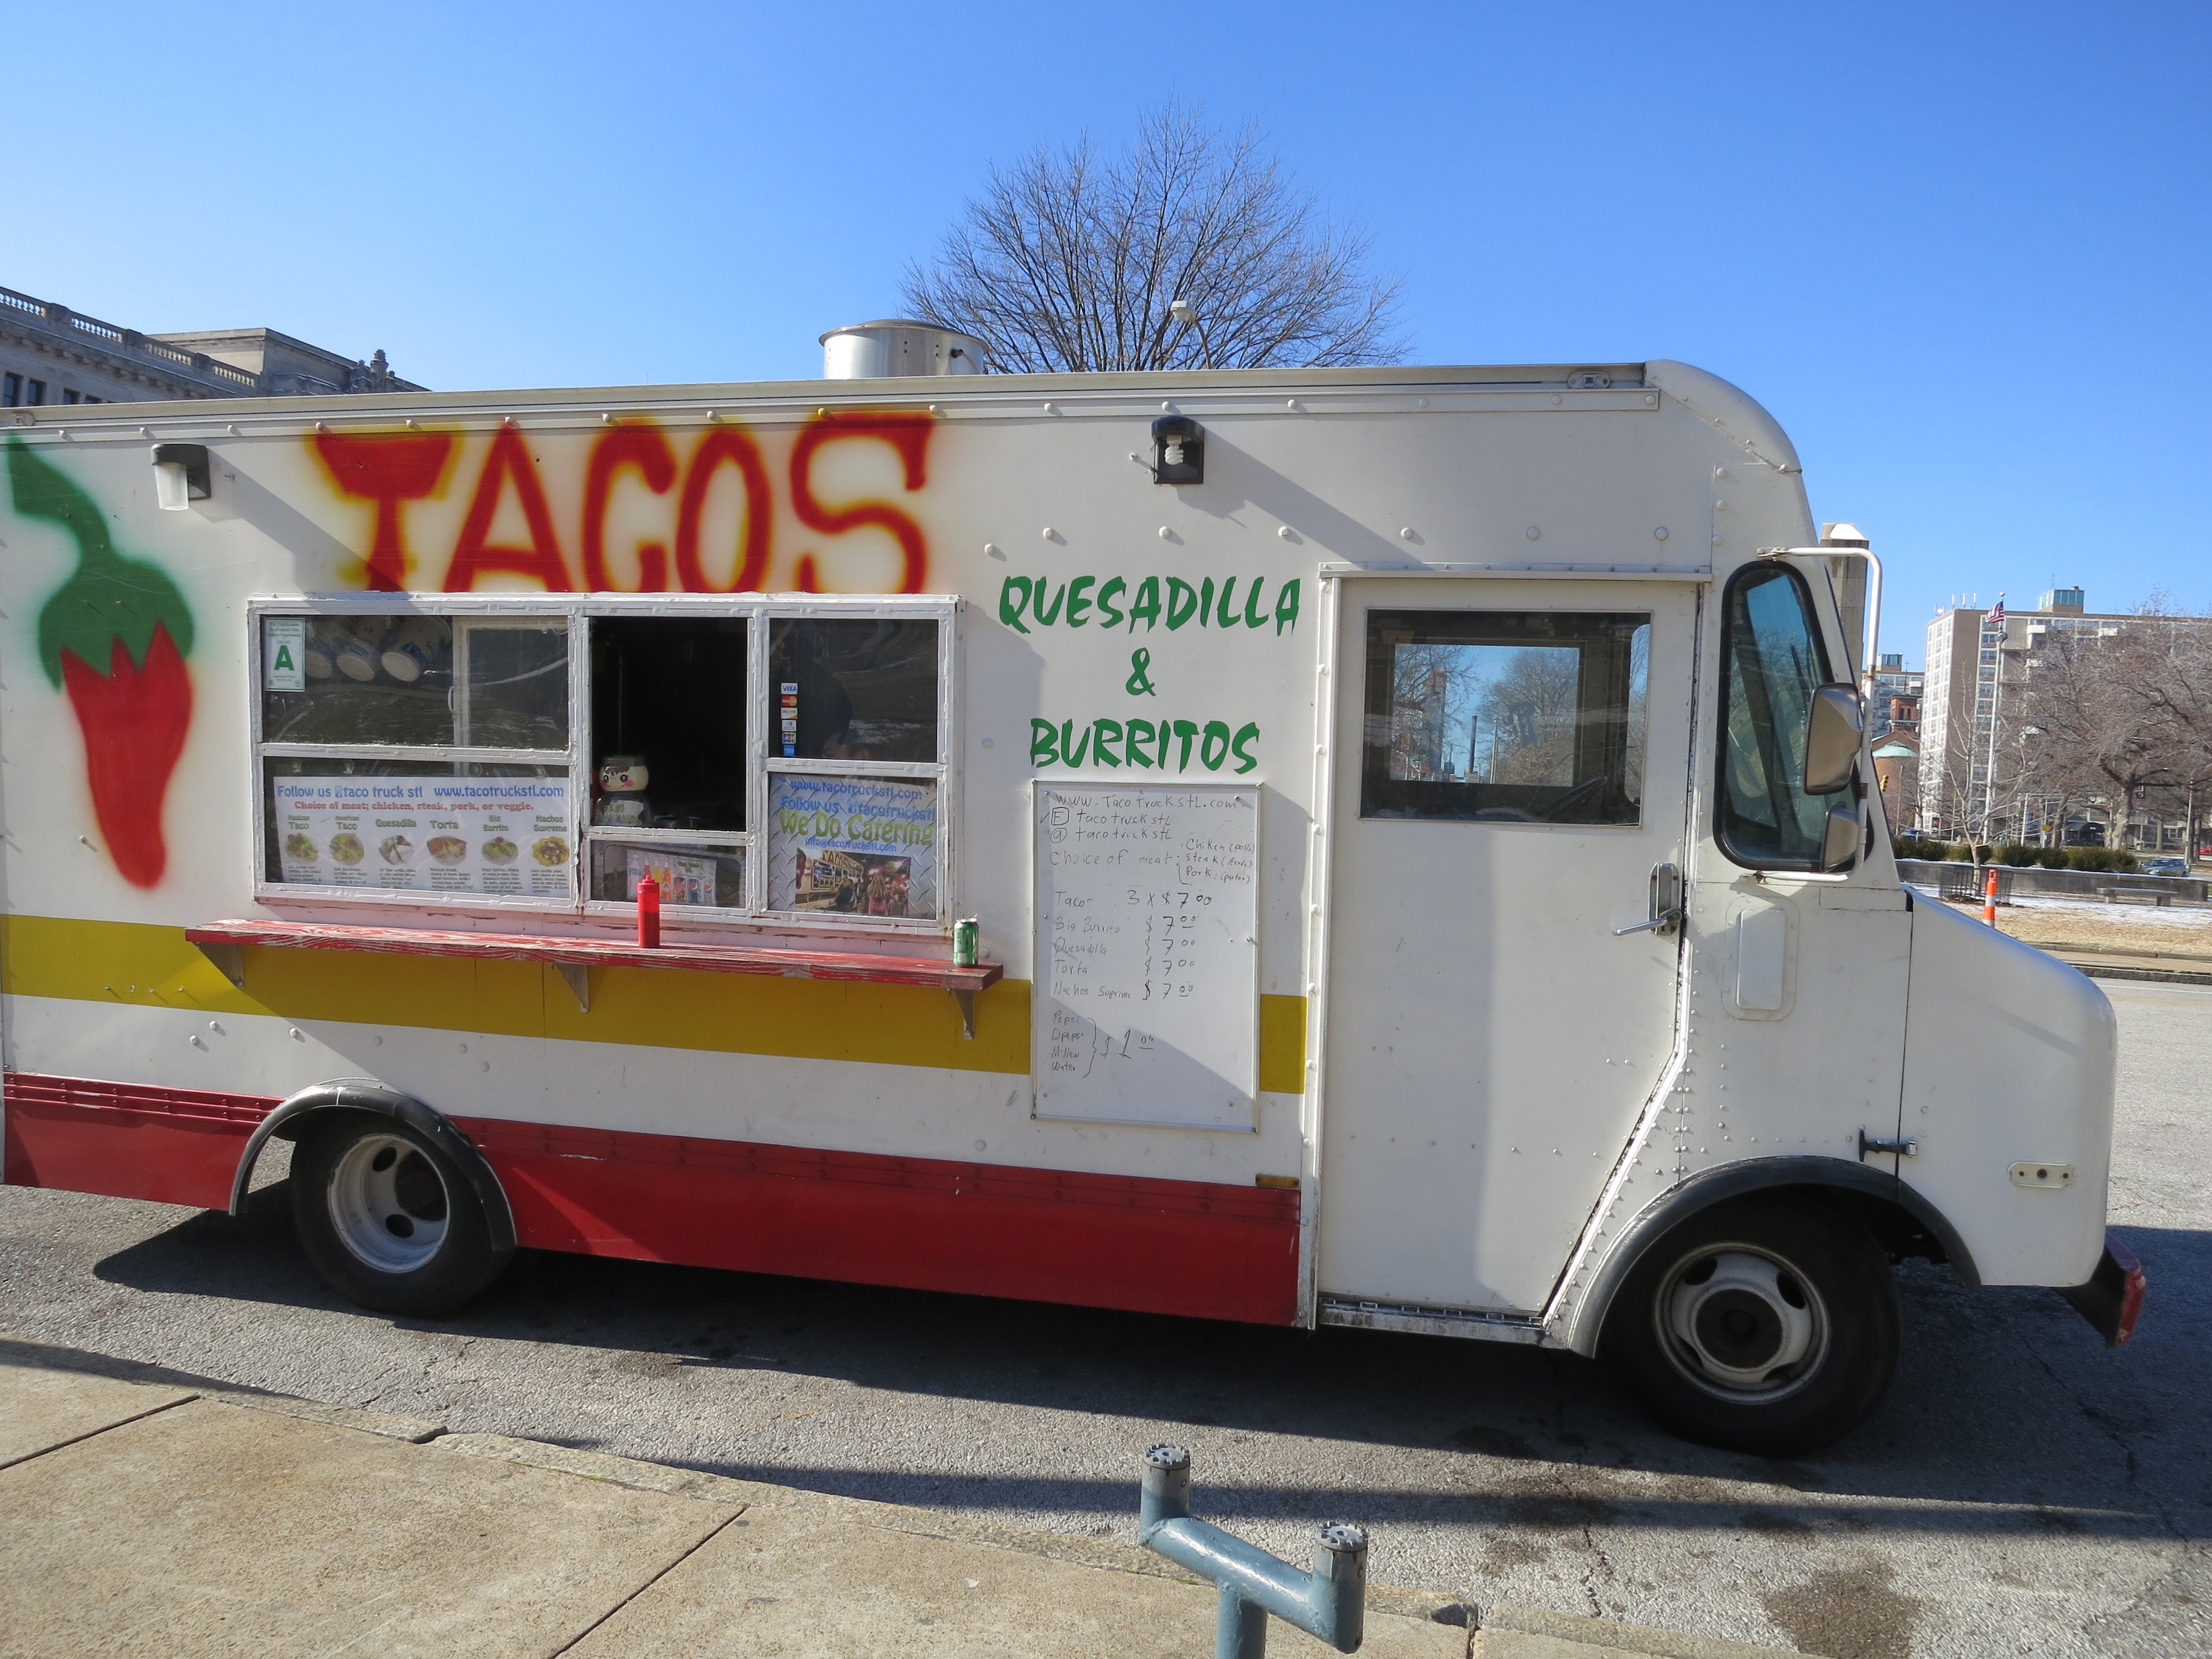
[[[1126,1544],[445,1433],[4,1338],[0,1584],[4,1659],[1201,1659],[1214,1624],[1212,1586]],[[1270,1650],[1329,1652],[1283,1624]],[[1778,1650],[1371,1586],[1363,1652]]]

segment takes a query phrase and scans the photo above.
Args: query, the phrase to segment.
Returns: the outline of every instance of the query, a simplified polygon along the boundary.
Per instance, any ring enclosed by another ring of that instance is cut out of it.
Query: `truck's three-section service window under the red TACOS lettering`
[[[947,602],[487,599],[254,602],[265,896],[942,916]]]

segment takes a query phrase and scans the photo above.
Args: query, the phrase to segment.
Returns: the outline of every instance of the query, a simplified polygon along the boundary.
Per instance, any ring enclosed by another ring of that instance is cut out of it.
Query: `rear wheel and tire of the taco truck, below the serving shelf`
[[[380,1314],[449,1314],[482,1292],[482,1199],[425,1135],[380,1113],[319,1113],[292,1148],[292,1225],[323,1281]]]

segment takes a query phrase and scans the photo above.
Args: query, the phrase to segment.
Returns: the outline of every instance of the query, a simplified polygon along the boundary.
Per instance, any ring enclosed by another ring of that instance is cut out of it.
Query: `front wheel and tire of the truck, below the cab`
[[[1882,1402],[1898,1285],[1874,1237],[1823,1199],[1719,1203],[1628,1272],[1599,1358],[1681,1438],[1790,1458]]]

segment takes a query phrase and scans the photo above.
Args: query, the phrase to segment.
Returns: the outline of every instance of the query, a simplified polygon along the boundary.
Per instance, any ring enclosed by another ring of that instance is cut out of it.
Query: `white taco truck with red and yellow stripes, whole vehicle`
[[[0,411],[7,1181],[1566,1347],[1865,1418],[2124,1340],[2112,1013],[1902,887],[1871,555],[1683,363]]]

